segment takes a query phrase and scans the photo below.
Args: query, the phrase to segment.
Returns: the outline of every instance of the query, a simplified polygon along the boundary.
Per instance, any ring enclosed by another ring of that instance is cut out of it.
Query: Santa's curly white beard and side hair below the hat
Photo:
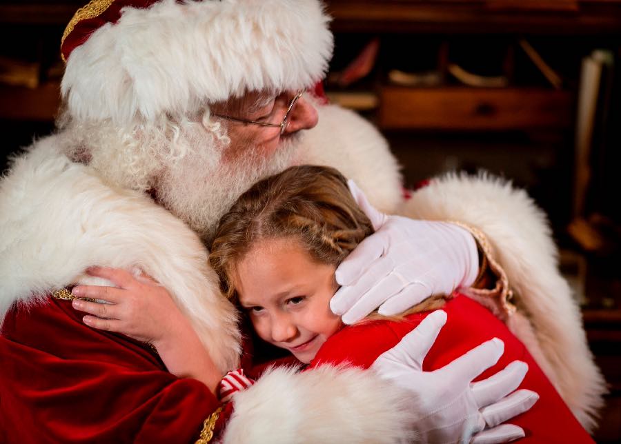
[[[290,134],[274,154],[266,155],[240,141],[232,150],[226,127],[208,117],[202,124],[164,120],[127,129],[67,118],[62,126],[63,151],[71,159],[88,163],[112,185],[155,190],[157,201],[204,241],[253,183],[293,165],[302,137]],[[226,158],[230,152],[236,153],[234,159]]]

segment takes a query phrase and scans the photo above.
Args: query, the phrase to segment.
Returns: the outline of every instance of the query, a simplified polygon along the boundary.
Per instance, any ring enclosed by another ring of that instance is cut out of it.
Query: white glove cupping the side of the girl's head
[[[348,185],[375,234],[336,270],[341,288],[330,307],[344,323],[355,323],[377,307],[380,314],[397,314],[432,294],[451,294],[474,283],[479,256],[467,230],[451,223],[388,216],[375,210],[353,181]]]

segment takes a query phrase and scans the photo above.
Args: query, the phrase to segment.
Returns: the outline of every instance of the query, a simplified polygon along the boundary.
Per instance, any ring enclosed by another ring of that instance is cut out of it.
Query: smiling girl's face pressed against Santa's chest
[[[310,363],[342,325],[330,311],[334,272],[334,265],[314,261],[295,239],[269,239],[237,263],[234,281],[259,337]]]

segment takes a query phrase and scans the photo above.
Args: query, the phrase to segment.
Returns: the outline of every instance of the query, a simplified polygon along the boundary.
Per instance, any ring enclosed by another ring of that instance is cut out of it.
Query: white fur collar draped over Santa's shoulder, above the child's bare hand
[[[235,308],[219,293],[208,253],[183,222],[148,197],[112,189],[57,151],[35,143],[0,182],[0,321],[72,283],[90,265],[140,268],[166,287],[223,371],[237,364]]]

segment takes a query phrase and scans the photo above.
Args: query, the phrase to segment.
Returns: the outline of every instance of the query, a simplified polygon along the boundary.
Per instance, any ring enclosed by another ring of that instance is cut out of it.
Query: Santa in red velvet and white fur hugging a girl
[[[207,442],[225,420],[236,430],[225,439],[248,442],[390,442],[411,437],[424,421],[466,427],[481,406],[420,403],[415,385],[402,399],[394,381],[357,369],[303,378],[275,371],[246,391],[233,415],[231,405],[220,414],[199,381],[172,376],[148,344],[86,327],[66,300],[79,283],[110,285],[86,274],[91,265],[142,270],[169,290],[219,370],[235,368],[237,316],[219,293],[203,241],[250,184],[294,163],[338,168],[387,214],[466,226],[402,219],[379,228],[374,242],[386,242],[382,254],[399,283],[388,270],[368,291],[345,266],[333,301],[345,321],[471,285],[480,272],[473,232],[482,272],[491,270],[498,285],[471,296],[526,343],[582,424],[593,427],[604,383],[544,215],[524,192],[488,177],[433,179],[404,201],[398,165],[377,130],[304,94],[326,72],[328,22],[315,0],[93,0],[76,12],[61,46],[58,131],[14,159],[0,183],[3,441]],[[437,248],[417,245],[421,238]],[[313,398],[322,384],[368,396]],[[437,384],[446,392],[449,381]],[[465,381],[464,396],[468,387]],[[276,403],[298,414],[273,418]],[[322,416],[326,436],[305,435],[313,425],[301,421],[304,410],[326,404],[346,415]],[[463,438],[464,430],[448,429],[444,441]]]

